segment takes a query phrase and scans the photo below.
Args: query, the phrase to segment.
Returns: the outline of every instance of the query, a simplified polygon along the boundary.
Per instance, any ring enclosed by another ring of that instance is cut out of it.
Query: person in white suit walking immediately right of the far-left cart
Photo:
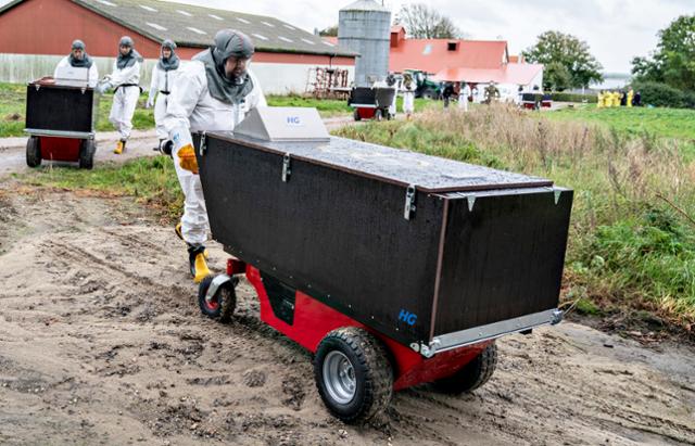
[[[113,63],[113,72],[98,87],[101,93],[112,88],[116,91],[109,120],[121,133],[121,140],[113,151],[117,155],[126,150],[126,142],[132,130],[132,115],[142,91],[139,85],[141,65],[142,56],[135,50],[135,42],[130,37],[124,36],[118,42],[118,58]]]

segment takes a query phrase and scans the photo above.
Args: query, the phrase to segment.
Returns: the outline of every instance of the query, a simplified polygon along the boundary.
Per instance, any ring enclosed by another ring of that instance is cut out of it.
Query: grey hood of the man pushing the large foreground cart
[[[210,94],[218,101],[238,104],[253,90],[253,80],[248,72],[229,79],[225,75],[225,62],[232,56],[251,59],[253,53],[253,42],[248,36],[223,29],[215,36],[215,46],[197,54],[193,60],[205,65]]]

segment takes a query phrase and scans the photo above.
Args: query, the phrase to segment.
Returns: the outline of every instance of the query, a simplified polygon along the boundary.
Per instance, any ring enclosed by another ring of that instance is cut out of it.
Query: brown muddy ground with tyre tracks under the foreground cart
[[[0,444],[695,443],[691,347],[564,322],[500,341],[471,395],[419,386],[349,426],[247,282],[229,324],[195,292],[172,228],[131,200],[0,183]]]

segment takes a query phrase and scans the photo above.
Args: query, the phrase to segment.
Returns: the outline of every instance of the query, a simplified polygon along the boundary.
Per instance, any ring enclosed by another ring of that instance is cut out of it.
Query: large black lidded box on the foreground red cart
[[[197,153],[228,253],[406,345],[557,307],[572,191],[548,180],[341,138]]]

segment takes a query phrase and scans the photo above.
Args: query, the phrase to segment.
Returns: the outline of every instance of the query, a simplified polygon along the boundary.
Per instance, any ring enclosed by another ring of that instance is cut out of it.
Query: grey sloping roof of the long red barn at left
[[[0,14],[26,0],[0,8]],[[320,37],[274,17],[157,0],[70,0],[152,40],[207,48],[222,28],[251,37],[256,51],[355,56]]]

